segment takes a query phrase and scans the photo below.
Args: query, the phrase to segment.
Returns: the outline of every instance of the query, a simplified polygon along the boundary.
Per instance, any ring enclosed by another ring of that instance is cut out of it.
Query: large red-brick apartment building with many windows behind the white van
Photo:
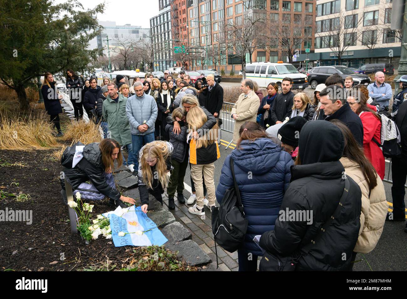
[[[279,21],[287,23],[287,26],[302,15],[306,17],[306,25],[302,30],[301,35],[304,41],[298,47],[298,54],[304,53],[306,48],[314,50],[315,36],[315,1],[314,0],[187,0],[188,10],[188,42],[189,44],[204,47],[208,53],[201,57],[192,57],[188,61],[190,69],[221,68],[225,72],[230,70],[239,71],[241,65],[239,61],[232,58],[234,52],[231,49],[225,49],[225,44],[219,42],[221,28],[224,24],[242,24],[245,16],[250,11],[263,13],[271,21]],[[283,21],[284,20],[284,21]],[[270,36],[270,38],[273,38]],[[270,43],[271,44],[271,43]],[[204,57],[205,56],[205,57]],[[206,65],[208,60],[208,65]],[[281,45],[275,43],[275,48],[257,48],[252,53],[246,54],[246,61],[270,61],[277,62],[278,60],[287,61],[287,56],[284,55]],[[230,64],[234,63],[234,64]]]

